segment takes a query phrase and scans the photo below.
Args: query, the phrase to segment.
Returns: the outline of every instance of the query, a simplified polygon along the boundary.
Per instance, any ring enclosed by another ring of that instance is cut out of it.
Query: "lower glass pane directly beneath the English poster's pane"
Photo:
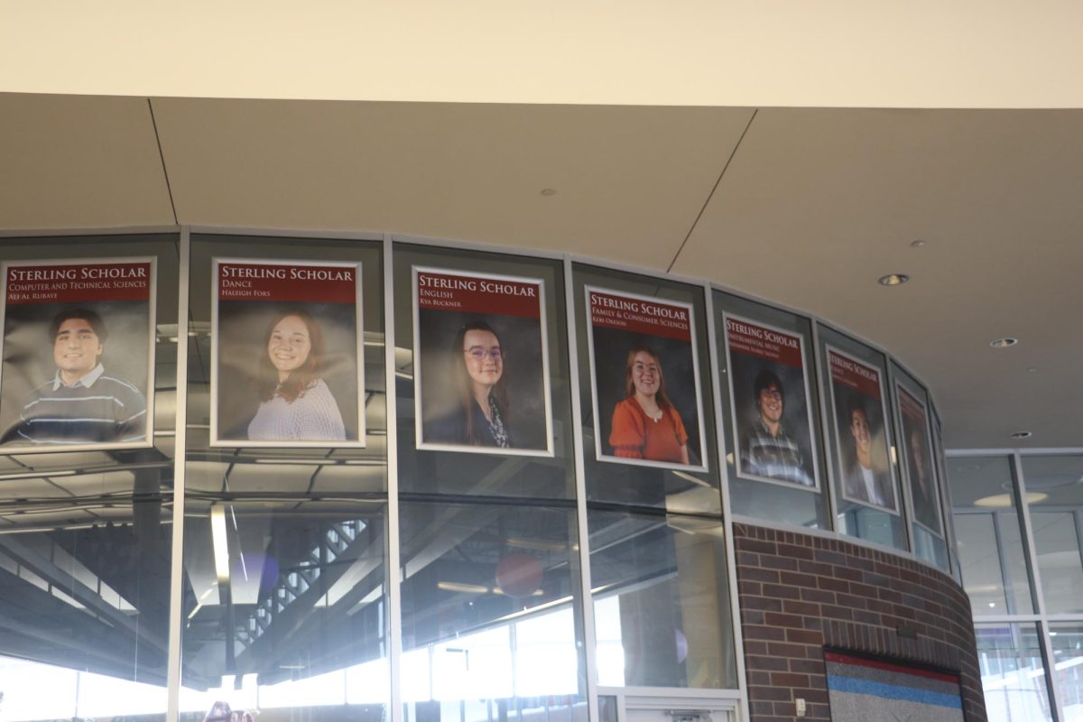
[[[583,701],[574,508],[409,501],[400,517],[407,716]]]

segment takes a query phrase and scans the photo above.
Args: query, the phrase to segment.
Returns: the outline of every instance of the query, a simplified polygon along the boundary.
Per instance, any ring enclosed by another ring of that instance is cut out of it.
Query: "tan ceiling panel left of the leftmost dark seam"
[[[0,228],[173,224],[146,99],[0,93]]]

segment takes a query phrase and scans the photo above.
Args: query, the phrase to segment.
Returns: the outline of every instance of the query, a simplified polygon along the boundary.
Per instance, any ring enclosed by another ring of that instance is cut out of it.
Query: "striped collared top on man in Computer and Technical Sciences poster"
[[[146,399],[99,364],[70,386],[52,381],[30,392],[18,435],[31,444],[95,444],[146,438]]]

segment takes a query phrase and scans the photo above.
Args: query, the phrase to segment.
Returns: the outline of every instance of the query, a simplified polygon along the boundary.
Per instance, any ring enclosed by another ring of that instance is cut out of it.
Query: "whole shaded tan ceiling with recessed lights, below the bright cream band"
[[[393,232],[671,266],[892,350],[952,447],[1080,445],[1083,111],[0,94],[0,168],[5,229]],[[912,280],[876,284],[891,272]]]

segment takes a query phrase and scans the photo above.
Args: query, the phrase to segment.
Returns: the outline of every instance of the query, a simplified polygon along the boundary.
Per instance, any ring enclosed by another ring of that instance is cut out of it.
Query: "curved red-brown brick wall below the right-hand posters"
[[[831,719],[824,646],[957,672],[964,717],[984,722],[970,603],[951,577],[887,552],[749,524],[734,525],[733,541],[752,722],[797,719],[798,697],[804,719]]]

